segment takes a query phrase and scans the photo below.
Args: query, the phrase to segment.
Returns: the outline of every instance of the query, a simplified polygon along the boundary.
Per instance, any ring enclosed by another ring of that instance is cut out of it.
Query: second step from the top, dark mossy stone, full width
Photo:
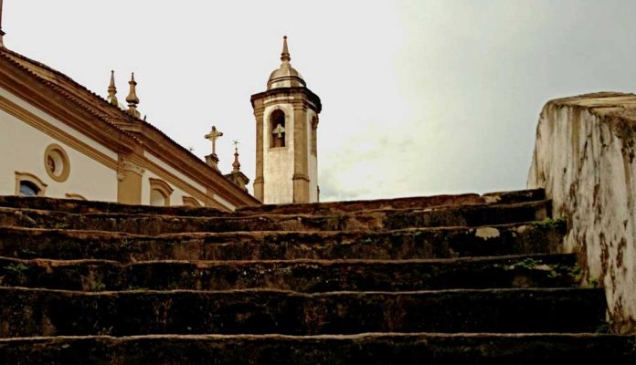
[[[395,230],[543,221],[549,201],[448,206],[432,210],[376,210],[328,216],[269,214],[193,217],[150,214],[69,214],[0,207],[0,225],[161,235],[187,232]]]

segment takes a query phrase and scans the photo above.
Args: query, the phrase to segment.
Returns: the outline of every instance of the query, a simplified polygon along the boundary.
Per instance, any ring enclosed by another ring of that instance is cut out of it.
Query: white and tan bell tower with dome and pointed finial
[[[287,36],[281,67],[270,74],[267,91],[251,96],[256,118],[254,196],[262,203],[318,201],[318,114],[320,98],[292,68]]]

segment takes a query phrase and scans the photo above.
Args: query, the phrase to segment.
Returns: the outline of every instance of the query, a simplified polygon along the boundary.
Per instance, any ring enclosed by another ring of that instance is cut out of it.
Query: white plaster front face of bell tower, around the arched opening
[[[285,129],[293,130],[293,107],[290,104],[270,106],[265,108],[263,127],[263,203],[290,203],[293,196],[293,138],[292,133],[285,135],[285,147],[270,148],[270,114],[273,110],[281,109],[285,112]]]

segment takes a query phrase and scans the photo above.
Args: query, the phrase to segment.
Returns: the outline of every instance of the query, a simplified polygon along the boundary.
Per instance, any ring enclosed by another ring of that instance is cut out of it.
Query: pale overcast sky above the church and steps
[[[249,97],[289,36],[323,100],[323,200],[525,188],[549,99],[636,89],[636,1],[5,0],[5,45],[125,99],[199,157],[211,125],[253,180]],[[251,185],[251,184],[250,184]],[[251,186],[250,186],[251,188]]]

